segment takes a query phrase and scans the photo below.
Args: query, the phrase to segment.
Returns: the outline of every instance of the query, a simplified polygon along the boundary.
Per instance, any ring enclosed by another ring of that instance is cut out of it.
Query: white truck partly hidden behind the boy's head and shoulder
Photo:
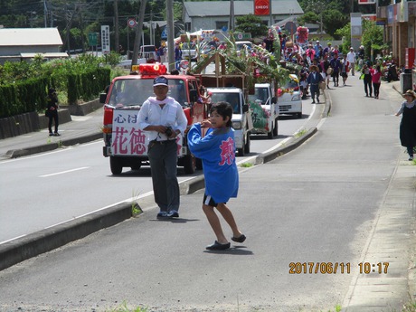
[[[250,133],[253,128],[249,105],[246,104],[244,93],[240,88],[208,88],[213,103],[225,101],[232,105],[232,128],[234,129],[237,155],[250,153]]]

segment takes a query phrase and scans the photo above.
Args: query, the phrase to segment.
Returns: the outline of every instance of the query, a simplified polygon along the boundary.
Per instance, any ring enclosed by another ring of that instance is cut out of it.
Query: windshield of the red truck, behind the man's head
[[[169,80],[168,97],[176,99],[184,106],[187,101],[183,80]],[[153,79],[125,79],[117,80],[111,89],[109,105],[123,104],[125,107],[141,106],[153,93]]]

